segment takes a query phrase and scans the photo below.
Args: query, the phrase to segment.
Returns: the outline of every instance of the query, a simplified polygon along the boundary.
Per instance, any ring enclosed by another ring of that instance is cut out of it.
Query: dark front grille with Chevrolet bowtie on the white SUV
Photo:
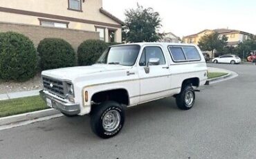
[[[49,77],[43,77],[43,84],[46,91],[49,91],[50,93],[62,98],[65,97],[64,83],[62,81]]]

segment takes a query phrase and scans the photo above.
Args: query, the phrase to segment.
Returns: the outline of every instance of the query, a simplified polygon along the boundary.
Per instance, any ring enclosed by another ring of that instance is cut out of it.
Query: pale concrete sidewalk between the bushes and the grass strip
[[[19,97],[35,96],[35,95],[39,95],[39,91],[40,91],[40,89],[33,90],[33,91],[0,94],[0,100],[11,100],[11,99],[19,98]]]

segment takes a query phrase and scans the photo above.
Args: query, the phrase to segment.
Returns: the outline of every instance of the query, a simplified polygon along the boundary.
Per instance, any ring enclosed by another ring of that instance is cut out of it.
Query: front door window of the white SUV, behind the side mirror
[[[158,58],[159,65],[165,64],[163,51],[158,46],[147,46],[143,49],[143,53],[140,57],[140,66],[146,66],[150,58]]]

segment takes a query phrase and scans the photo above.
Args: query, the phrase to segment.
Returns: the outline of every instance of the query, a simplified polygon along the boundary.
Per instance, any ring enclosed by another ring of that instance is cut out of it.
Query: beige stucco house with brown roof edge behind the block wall
[[[102,8],[102,0],[2,0],[0,21],[98,32],[98,39],[122,41],[123,22]]]

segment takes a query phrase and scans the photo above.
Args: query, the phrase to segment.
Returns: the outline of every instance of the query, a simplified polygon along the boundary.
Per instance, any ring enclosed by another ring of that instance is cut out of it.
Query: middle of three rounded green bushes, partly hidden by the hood
[[[64,39],[46,38],[40,41],[37,52],[42,70],[75,66],[75,50]]]

